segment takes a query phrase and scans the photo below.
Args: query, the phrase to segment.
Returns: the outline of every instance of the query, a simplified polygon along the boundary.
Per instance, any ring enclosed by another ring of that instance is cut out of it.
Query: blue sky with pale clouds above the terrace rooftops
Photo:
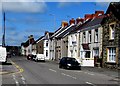
[[[45,31],[54,32],[62,21],[71,18],[84,18],[85,14],[93,14],[96,10],[106,12],[109,2],[39,2],[38,0],[17,0],[0,2],[0,43],[3,34],[3,11],[5,12],[6,45],[20,46],[27,41],[29,35],[35,40]]]

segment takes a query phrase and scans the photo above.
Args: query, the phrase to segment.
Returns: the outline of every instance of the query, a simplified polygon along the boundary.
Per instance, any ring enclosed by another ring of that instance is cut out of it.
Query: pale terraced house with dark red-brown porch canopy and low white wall
[[[85,23],[80,26],[80,59],[82,66],[101,66],[103,11],[85,15]]]

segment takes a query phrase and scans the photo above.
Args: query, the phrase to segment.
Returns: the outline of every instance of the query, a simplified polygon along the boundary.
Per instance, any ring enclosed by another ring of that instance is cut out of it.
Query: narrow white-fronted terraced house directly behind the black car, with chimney
[[[78,60],[79,63],[81,63],[80,60],[80,34],[78,30],[78,26],[80,26],[83,23],[82,18],[77,18],[76,21],[74,21],[75,26],[73,27],[72,31],[68,34],[68,57],[73,57]]]

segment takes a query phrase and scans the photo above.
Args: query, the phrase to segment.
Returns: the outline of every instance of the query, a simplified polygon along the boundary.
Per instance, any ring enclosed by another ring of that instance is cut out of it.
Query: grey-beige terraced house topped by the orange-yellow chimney
[[[50,37],[50,58],[52,60],[58,61],[59,58],[61,58],[61,37],[59,38],[58,36],[61,32],[64,32],[67,26],[68,23],[66,21],[62,21],[61,27]]]

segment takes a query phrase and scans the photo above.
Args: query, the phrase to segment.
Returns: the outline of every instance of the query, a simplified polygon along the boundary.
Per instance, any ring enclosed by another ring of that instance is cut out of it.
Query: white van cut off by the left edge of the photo
[[[0,62],[7,62],[7,51],[2,46],[0,46]]]

